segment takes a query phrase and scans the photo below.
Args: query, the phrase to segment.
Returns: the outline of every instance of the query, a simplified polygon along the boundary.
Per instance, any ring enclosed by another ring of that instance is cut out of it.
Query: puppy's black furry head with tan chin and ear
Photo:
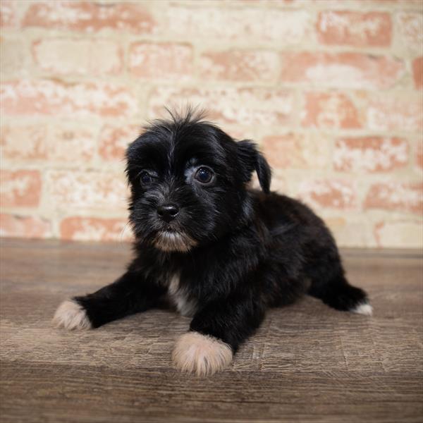
[[[154,121],[126,157],[135,238],[166,252],[187,252],[247,221],[253,171],[269,192],[271,171],[255,144],[190,111]]]

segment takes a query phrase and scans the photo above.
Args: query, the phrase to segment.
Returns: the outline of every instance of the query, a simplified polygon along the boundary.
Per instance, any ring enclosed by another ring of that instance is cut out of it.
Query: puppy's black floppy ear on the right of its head
[[[259,152],[255,143],[250,140],[237,142],[237,147],[240,165],[244,171],[245,182],[249,182],[252,172],[256,171],[262,190],[266,194],[269,194],[271,168],[262,153]]]

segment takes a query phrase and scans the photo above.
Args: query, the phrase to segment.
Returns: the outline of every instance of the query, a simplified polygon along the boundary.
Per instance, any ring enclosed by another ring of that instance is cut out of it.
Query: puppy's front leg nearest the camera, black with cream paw
[[[231,364],[240,343],[257,329],[264,317],[258,301],[227,300],[201,309],[190,324],[190,332],[176,342],[173,364],[183,372],[208,376]]]

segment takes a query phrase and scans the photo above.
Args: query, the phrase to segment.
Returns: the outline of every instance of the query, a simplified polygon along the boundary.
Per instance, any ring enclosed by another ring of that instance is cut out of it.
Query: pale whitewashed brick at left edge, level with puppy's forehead
[[[2,157],[14,160],[90,161],[96,134],[71,124],[6,125],[1,129]]]

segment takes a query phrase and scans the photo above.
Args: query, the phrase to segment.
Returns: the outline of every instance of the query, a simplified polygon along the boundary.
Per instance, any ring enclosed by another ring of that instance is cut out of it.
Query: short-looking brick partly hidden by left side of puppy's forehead
[[[105,125],[100,134],[100,156],[105,160],[123,161],[126,148],[140,133],[140,125]]]

